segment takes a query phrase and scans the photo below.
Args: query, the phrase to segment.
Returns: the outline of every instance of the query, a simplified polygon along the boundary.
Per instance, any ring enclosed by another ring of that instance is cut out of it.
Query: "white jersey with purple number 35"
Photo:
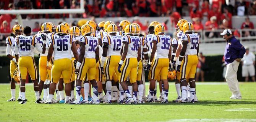
[[[156,58],[168,58],[171,48],[171,38],[165,35],[154,35],[152,41],[156,41]]]

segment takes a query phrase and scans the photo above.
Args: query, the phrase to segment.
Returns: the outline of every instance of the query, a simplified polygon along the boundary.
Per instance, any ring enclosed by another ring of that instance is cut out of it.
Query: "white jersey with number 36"
[[[122,38],[122,43],[128,43],[128,51],[127,51],[126,58],[138,57],[138,49],[141,43],[141,39],[139,38],[139,36],[125,35]]]

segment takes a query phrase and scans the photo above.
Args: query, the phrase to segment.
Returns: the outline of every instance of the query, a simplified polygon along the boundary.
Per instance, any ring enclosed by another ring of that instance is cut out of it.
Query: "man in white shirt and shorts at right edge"
[[[253,52],[249,52],[249,48],[246,47],[245,55],[242,59],[242,76],[245,77],[245,81],[249,81],[249,76],[252,81],[255,81],[255,55]]]

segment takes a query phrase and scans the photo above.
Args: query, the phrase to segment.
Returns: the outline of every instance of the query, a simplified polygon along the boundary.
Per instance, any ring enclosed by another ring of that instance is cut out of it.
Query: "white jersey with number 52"
[[[181,36],[181,41],[187,41],[187,49],[185,55],[197,55],[197,48],[200,36],[198,33],[183,34]]]

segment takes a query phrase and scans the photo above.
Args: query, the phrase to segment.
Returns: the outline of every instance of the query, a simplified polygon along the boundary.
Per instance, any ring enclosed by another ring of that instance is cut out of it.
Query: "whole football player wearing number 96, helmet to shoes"
[[[50,84],[49,95],[47,97],[47,104],[53,103],[53,94],[56,89],[60,76],[63,76],[63,82],[65,83],[66,99],[65,103],[71,103],[71,77],[73,73],[73,63],[71,60],[71,51],[73,52],[76,60],[78,60],[78,52],[76,45],[73,43],[73,35],[67,35],[67,27],[63,24],[58,25],[56,28],[56,34],[50,38],[49,52],[47,55],[47,69],[51,69],[52,82]],[[53,65],[50,63],[52,54],[54,52]]]

